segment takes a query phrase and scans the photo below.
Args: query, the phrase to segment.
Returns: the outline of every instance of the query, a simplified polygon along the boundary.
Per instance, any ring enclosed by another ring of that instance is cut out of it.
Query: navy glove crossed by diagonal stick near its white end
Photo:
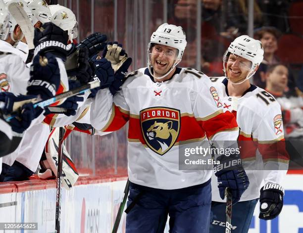
[[[69,86],[69,90],[73,90],[77,87],[80,87],[81,84],[76,81],[69,80],[68,86]],[[80,96],[80,95],[84,95],[84,93],[71,96],[71,97],[67,98],[62,104],[57,105],[55,107],[46,108],[44,115],[53,114],[53,113],[54,114],[63,113],[66,116],[76,115],[76,110],[78,109],[77,102],[82,102],[84,100],[84,97]]]

